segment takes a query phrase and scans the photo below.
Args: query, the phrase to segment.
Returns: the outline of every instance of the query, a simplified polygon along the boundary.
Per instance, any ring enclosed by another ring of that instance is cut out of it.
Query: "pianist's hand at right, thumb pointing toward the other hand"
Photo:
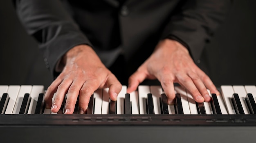
[[[189,90],[196,102],[210,101],[207,89],[219,94],[211,79],[195,65],[189,51],[170,39],[160,41],[153,54],[130,76],[127,92],[137,89],[146,78],[159,80],[168,104],[172,104],[175,98],[174,82]]]

